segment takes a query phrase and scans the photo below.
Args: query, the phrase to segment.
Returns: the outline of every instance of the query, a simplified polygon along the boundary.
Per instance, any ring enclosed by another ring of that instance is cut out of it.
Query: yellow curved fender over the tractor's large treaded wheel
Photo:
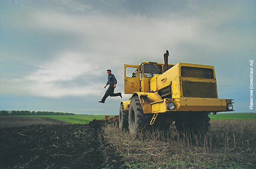
[[[162,98],[157,92],[147,93],[147,92],[135,92],[132,97],[138,96],[140,98],[141,107],[145,114],[153,113],[151,103],[159,102]]]

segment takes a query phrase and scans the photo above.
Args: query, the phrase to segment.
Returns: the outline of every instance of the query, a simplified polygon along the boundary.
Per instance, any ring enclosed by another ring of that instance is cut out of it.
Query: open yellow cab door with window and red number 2
[[[140,66],[124,65],[124,93],[140,91]]]

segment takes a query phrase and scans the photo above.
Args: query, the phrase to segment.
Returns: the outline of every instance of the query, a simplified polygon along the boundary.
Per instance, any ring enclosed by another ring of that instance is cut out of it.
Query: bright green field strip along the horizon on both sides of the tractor
[[[31,116],[30,116],[31,117]],[[93,119],[105,119],[105,115],[75,115],[75,116],[57,116],[57,115],[45,115],[45,116],[33,116],[33,117],[47,117],[60,120],[72,124],[86,124]],[[246,119],[256,119],[256,113],[217,113],[216,115],[210,114],[211,120],[246,120]]]

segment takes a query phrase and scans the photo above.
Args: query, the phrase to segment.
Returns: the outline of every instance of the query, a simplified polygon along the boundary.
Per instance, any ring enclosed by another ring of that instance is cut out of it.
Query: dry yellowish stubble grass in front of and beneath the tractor
[[[113,125],[103,138],[109,168],[123,162],[128,169],[256,168],[256,120],[211,121],[205,136],[152,130],[131,136]],[[113,162],[113,163],[111,163]]]

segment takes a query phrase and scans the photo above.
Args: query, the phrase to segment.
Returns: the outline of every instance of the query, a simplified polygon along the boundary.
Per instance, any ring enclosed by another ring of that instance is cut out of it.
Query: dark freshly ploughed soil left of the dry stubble
[[[0,169],[104,168],[100,132],[82,124],[0,129]]]

